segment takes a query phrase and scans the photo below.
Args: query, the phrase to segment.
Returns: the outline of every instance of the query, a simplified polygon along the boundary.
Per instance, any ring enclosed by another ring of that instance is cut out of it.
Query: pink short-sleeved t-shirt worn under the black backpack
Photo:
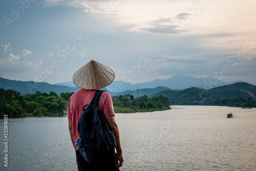
[[[72,119],[73,122],[74,141],[80,138],[77,131],[77,123],[83,112],[83,106],[86,104],[90,104],[97,90],[80,89],[77,92],[75,92],[69,99],[68,119]],[[111,96],[106,91],[102,92],[100,96],[99,109],[104,116],[115,116]],[[75,143],[75,151],[77,151],[77,149],[78,146]]]

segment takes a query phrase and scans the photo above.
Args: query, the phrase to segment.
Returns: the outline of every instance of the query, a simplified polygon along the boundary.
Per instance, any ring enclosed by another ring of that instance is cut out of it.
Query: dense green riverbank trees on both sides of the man
[[[72,93],[36,92],[35,94],[21,95],[15,90],[0,89],[0,117],[9,118],[29,116],[62,116],[67,110],[68,100]],[[113,97],[115,113],[152,112],[170,109],[167,97],[134,98],[132,95]]]

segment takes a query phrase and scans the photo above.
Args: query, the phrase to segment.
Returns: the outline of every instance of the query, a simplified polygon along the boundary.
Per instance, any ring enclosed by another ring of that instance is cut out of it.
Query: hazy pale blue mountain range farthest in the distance
[[[212,80],[214,84],[210,84]],[[123,81],[114,81],[109,86],[106,87],[106,90],[110,92],[124,92],[128,90],[137,90],[138,89],[154,89],[156,87],[166,87],[172,90],[184,90],[191,87],[197,87],[201,89],[211,89],[215,87],[225,86],[228,84],[232,84],[235,82],[243,82],[242,80],[225,82],[221,80],[217,80],[214,77],[207,78],[195,78],[192,76],[183,76],[183,75],[174,75],[172,78],[168,79],[155,79],[153,81],[131,84],[129,82]],[[68,87],[76,87],[75,84],[71,81],[69,82],[61,82],[57,83],[59,86],[68,86]]]

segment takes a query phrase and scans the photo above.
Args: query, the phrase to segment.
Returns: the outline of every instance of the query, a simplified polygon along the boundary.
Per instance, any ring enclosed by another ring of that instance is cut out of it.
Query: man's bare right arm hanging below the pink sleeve
[[[121,167],[123,164],[122,148],[120,144],[119,131],[114,116],[105,116],[106,122],[108,122],[110,131],[112,131],[116,138],[116,167]]]

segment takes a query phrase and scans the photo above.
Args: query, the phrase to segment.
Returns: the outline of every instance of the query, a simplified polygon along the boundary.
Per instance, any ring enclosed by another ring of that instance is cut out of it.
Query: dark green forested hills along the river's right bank
[[[150,95],[150,97],[163,95],[168,97],[173,105],[230,105],[236,106],[247,103],[245,100],[256,99],[256,86],[247,82],[237,82],[210,90],[188,88],[185,90],[165,90]],[[242,102],[243,101],[243,102]],[[250,100],[249,100],[250,101]]]

